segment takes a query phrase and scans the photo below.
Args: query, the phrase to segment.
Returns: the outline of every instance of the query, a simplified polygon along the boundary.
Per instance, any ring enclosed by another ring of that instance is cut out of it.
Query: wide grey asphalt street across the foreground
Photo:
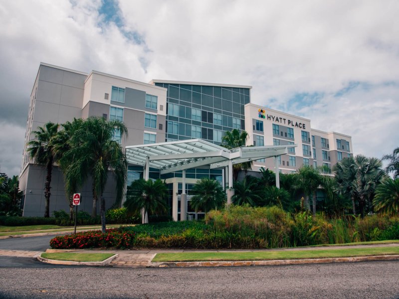
[[[399,298],[399,261],[221,268],[0,268],[0,298]]]

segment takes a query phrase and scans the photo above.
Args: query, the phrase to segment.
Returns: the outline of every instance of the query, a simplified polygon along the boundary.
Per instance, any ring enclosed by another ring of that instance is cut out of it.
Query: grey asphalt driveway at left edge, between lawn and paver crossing
[[[63,235],[59,235],[63,236]],[[24,237],[0,239],[0,249],[17,249],[29,251],[46,251],[50,240],[55,236]]]

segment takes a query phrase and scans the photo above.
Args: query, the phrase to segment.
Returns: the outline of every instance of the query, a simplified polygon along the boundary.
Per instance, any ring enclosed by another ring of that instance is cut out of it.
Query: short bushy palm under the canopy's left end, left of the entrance
[[[127,188],[124,206],[129,212],[144,209],[145,223],[148,221],[148,212],[151,214],[167,211],[166,197],[168,188],[160,179],[153,181],[143,178],[135,180]]]

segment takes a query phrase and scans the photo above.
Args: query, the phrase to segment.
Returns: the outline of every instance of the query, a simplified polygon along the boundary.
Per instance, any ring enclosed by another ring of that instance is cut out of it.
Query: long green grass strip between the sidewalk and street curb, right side
[[[339,258],[399,254],[398,247],[342,248],[322,250],[256,251],[256,252],[184,252],[158,253],[153,262],[264,261],[315,258]]]

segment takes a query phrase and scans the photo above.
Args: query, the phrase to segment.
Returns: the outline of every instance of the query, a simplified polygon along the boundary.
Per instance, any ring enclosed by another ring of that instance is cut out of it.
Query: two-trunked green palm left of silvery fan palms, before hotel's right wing
[[[316,217],[317,189],[323,183],[321,168],[303,165],[296,171],[298,186],[305,191],[307,207],[310,208],[309,197],[313,195],[313,217]]]

